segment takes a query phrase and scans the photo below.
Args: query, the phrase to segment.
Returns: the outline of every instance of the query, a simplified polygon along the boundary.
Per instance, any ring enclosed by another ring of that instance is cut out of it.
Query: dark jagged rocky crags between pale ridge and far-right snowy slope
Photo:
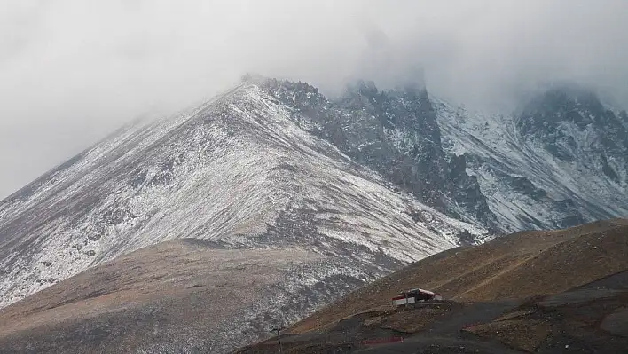
[[[379,90],[375,83],[359,80],[334,99],[325,98],[307,83],[270,79],[263,87],[293,107],[294,122],[325,138],[353,161],[381,173],[437,210],[464,215],[476,224],[491,224],[491,211],[477,182],[467,175],[464,159],[461,169],[459,163],[449,165],[436,110],[422,84]]]

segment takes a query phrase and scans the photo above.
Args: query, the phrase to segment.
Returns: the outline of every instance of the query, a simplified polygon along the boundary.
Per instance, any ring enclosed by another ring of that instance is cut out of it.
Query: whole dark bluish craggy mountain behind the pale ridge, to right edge
[[[249,79],[292,106],[304,130],[417,200],[492,232],[628,215],[628,118],[590,90],[556,86],[515,114],[485,114],[420,85],[382,91],[357,82],[330,100],[307,83]]]

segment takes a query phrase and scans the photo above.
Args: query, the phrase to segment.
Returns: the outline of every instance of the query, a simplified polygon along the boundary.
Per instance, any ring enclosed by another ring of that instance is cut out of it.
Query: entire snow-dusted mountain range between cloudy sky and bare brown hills
[[[107,261],[139,248],[159,258],[151,249],[166,241],[203,240],[208,259],[241,250],[230,270],[245,251],[285,250],[276,264],[307,276],[273,272],[255,284],[272,300],[216,330],[255,340],[266,332],[243,319],[300,319],[446,248],[628,215],[627,129],[625,112],[570,86],[485,114],[421,85],[357,82],[330,99],[247,75],[199,107],[114,132],[0,202],[0,307],[86,269],[108,274]]]

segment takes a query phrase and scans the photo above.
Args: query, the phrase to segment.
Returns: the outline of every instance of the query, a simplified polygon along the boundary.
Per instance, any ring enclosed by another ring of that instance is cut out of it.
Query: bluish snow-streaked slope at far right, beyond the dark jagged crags
[[[467,161],[503,230],[628,215],[625,113],[575,90],[549,90],[518,114],[469,112],[432,98],[445,150]]]

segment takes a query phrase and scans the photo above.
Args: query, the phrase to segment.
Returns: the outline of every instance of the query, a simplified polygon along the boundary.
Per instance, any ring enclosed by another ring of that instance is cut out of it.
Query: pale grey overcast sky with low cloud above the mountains
[[[467,105],[562,79],[628,102],[626,15],[627,0],[0,0],[0,198],[245,72],[334,95],[420,66]]]

